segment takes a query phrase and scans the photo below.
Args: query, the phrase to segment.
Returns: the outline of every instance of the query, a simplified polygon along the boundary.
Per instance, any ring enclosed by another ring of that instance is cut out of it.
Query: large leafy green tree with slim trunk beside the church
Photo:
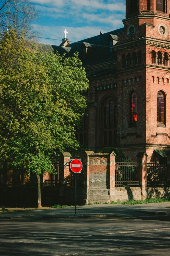
[[[80,123],[88,89],[78,53],[31,51],[14,31],[0,45],[0,159],[39,175],[52,172],[56,150],[78,148],[75,127]]]

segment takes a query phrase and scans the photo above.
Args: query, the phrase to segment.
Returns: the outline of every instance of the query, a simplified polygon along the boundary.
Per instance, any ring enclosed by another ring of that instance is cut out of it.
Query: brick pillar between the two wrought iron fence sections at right
[[[138,179],[142,190],[142,199],[147,197],[147,153],[139,152],[137,154]]]

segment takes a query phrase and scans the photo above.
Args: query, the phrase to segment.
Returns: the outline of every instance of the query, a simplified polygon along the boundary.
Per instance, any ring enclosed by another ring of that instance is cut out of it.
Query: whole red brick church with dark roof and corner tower
[[[94,151],[118,146],[134,158],[166,160],[170,145],[168,0],[126,0],[124,28],[54,48],[79,52],[89,79],[87,117],[77,140]],[[43,47],[47,47],[44,45]]]

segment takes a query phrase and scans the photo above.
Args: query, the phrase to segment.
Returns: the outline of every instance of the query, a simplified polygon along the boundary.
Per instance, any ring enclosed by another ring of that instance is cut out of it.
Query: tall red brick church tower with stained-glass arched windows
[[[169,0],[126,0],[123,24],[115,45],[119,145],[152,159],[170,146]]]

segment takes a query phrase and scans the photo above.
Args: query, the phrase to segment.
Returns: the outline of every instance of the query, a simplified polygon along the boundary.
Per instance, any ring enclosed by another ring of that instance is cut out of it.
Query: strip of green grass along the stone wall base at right
[[[151,204],[151,203],[165,203],[165,202],[170,202],[170,197],[167,198],[150,198],[150,199],[145,199],[145,200],[133,200],[130,199],[125,202],[120,202],[117,200],[117,202],[111,201],[108,204]]]

